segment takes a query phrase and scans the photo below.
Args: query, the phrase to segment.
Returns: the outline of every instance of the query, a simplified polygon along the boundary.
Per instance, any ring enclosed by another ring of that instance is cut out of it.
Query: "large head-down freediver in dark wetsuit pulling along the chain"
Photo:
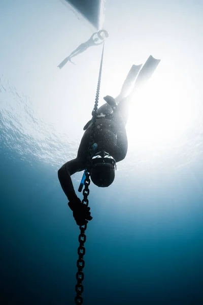
[[[114,181],[116,162],[122,161],[127,154],[125,126],[132,96],[138,85],[145,83],[151,77],[159,62],[159,59],[149,56],[141,70],[142,65],[133,65],[119,96],[116,99],[106,96],[104,98],[106,103],[97,110],[94,133],[96,149],[91,160],[90,178],[98,187],[108,187]],[[135,80],[133,90],[126,96]],[[91,125],[92,120],[89,120],[84,127],[85,133],[81,139],[76,159],[66,162],[58,170],[60,185],[69,200],[68,204],[73,211],[77,225],[85,225],[92,219],[90,208],[77,197],[71,179],[71,175],[86,168]]]

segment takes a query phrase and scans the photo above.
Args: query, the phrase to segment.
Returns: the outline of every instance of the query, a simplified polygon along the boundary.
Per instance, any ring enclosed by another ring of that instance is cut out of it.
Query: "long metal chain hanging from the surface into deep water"
[[[92,151],[92,145],[94,144],[94,132],[95,132],[95,123],[96,123],[96,113],[97,113],[97,108],[98,108],[98,99],[99,99],[99,91],[100,91],[100,83],[101,83],[101,71],[102,71],[102,66],[103,66],[103,57],[104,57],[104,46],[105,43],[103,44],[103,51],[101,54],[101,61],[100,61],[100,68],[99,68],[99,74],[98,74],[98,82],[97,82],[97,88],[96,88],[96,97],[95,97],[95,103],[94,103],[94,108],[92,110],[92,127],[91,127],[91,132],[90,132],[90,138],[89,138],[89,147],[88,147],[88,153],[87,153],[87,171],[86,171],[86,178],[84,181],[84,190],[83,190],[83,200],[82,203],[85,203],[88,206],[89,200],[88,200],[88,195],[89,195],[89,185],[90,185],[90,165],[91,165],[91,159],[93,157]],[[82,293],[83,293],[83,285],[82,281],[84,280],[84,273],[83,273],[83,268],[85,266],[85,261],[83,259],[85,255],[85,247],[84,243],[86,241],[86,235],[85,235],[85,230],[87,229],[87,224],[84,226],[80,226],[80,235],[79,235],[79,243],[80,246],[78,247],[78,255],[79,259],[77,260],[77,267],[78,267],[78,272],[76,273],[76,279],[77,279],[77,284],[76,284],[76,297],[75,297],[75,303],[77,305],[83,303],[83,298],[82,298]]]

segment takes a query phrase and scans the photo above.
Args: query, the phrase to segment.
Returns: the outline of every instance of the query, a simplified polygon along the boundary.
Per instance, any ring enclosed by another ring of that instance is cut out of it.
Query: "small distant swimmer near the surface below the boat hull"
[[[95,37],[97,36],[97,37]],[[97,46],[104,42],[105,38],[108,38],[109,34],[105,29],[101,29],[100,31],[93,33],[89,40],[87,40],[84,43],[81,43],[77,49],[75,49],[69,56],[67,56],[63,61],[58,65],[58,68],[61,69],[67,62],[71,62],[74,64],[71,60],[72,57],[77,56],[78,54],[86,51],[87,48],[91,46]],[[101,41],[100,41],[101,40]],[[99,42],[100,41],[100,42]],[[74,64],[75,65],[75,64]]]

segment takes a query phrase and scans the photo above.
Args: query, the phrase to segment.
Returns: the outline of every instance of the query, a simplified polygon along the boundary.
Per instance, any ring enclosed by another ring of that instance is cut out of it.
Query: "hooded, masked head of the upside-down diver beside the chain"
[[[115,178],[116,161],[106,151],[99,151],[91,161],[90,177],[97,187],[109,187]]]

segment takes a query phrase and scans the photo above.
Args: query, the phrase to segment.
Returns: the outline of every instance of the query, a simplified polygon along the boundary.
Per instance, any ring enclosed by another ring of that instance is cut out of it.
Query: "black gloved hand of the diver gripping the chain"
[[[78,226],[84,226],[88,223],[88,220],[92,220],[92,217],[90,216],[90,207],[85,203],[82,203],[78,197],[70,201],[68,205],[73,211],[73,217]]]

